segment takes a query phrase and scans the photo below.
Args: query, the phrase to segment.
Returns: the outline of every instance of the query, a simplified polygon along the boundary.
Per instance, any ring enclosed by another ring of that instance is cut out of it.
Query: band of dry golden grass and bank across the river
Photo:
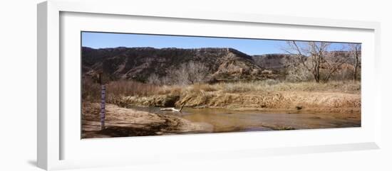
[[[341,111],[361,108],[360,82],[234,82],[155,86],[139,82],[108,84],[108,102],[119,106],[185,106]]]

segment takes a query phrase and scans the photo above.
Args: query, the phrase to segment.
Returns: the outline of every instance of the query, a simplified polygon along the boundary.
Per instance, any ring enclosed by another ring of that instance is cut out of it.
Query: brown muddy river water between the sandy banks
[[[213,127],[211,133],[361,127],[360,114],[287,114],[287,112],[279,111],[266,113],[258,110],[237,111],[211,108],[184,108],[179,113],[160,111],[158,107],[133,106],[131,108],[155,114],[180,116],[197,123],[207,123]]]

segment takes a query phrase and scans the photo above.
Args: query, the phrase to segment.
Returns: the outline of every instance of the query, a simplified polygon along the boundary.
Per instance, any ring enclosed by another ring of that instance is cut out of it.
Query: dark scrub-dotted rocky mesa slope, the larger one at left
[[[261,79],[262,68],[252,56],[232,48],[82,48],[83,75],[104,71],[110,79],[146,82],[165,77],[188,62],[200,62],[213,79]]]

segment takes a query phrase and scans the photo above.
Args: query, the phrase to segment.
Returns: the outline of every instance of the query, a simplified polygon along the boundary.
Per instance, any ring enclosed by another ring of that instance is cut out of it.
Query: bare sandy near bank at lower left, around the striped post
[[[172,133],[209,133],[212,126],[195,123],[177,116],[152,114],[147,111],[106,106],[105,129],[100,130],[98,103],[84,103],[82,108],[82,138],[159,136]]]

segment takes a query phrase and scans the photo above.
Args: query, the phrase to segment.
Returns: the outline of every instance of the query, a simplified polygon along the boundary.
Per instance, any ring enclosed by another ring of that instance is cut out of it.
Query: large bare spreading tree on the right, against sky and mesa
[[[341,65],[347,62],[347,57],[336,52],[329,52],[331,43],[287,41],[286,52],[295,57],[294,67],[303,67],[311,74],[315,82],[328,82]],[[305,75],[302,73],[301,75]]]

